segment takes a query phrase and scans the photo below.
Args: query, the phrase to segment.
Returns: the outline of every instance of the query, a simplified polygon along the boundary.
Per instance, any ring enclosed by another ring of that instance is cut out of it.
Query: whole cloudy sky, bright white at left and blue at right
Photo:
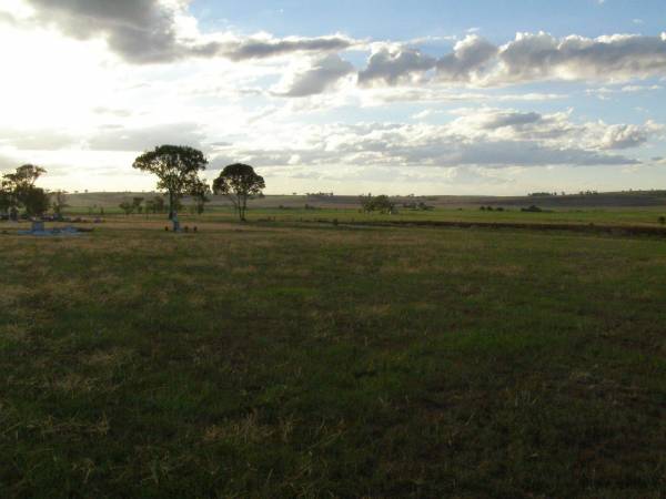
[[[2,0],[0,172],[149,191],[190,145],[268,194],[666,189],[664,0]]]

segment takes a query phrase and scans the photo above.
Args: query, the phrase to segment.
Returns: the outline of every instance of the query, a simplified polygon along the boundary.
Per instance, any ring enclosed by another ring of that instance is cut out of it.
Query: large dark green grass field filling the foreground
[[[666,240],[303,216],[0,233],[0,497],[664,497]]]

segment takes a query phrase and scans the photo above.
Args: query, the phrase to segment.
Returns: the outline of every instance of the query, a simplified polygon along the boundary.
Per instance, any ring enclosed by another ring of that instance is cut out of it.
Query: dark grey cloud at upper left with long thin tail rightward
[[[81,40],[104,39],[130,63],[164,63],[185,58],[223,57],[233,61],[296,52],[335,52],[355,41],[343,35],[274,39],[266,35],[202,35],[188,12],[189,0],[26,0],[33,22],[57,27]]]

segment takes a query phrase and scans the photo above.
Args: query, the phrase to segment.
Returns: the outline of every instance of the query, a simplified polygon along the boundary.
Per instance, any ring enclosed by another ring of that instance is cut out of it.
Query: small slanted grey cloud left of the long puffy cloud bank
[[[292,98],[320,94],[353,72],[354,67],[350,62],[343,61],[337,54],[330,54],[317,59],[306,70],[290,74],[282,83],[283,90],[274,94]]]

